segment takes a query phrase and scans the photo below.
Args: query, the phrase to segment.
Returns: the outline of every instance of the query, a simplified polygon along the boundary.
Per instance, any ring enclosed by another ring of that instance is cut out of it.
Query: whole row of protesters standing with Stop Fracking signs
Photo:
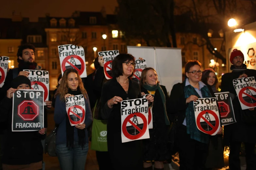
[[[245,146],[247,170],[256,169],[256,109],[242,110],[233,79],[256,78],[256,70],[247,69],[244,55],[233,50],[230,55],[232,70],[221,78],[221,92],[230,92],[236,123],[220,128],[216,135],[198,130],[193,103],[199,98],[215,97],[218,79],[212,69],[201,69],[193,60],[185,65],[185,79],[173,86],[170,96],[160,85],[154,68],[141,73],[140,83],[131,79],[135,57],[119,54],[112,61],[112,79],[104,76],[103,57],[94,60],[95,70],[81,78],[77,70],[69,68],[58,78],[57,89],[49,101],[44,101],[44,126],[39,131],[13,132],[13,94],[31,89],[29,70],[42,70],[35,62],[35,47],[23,44],[17,53],[18,68],[10,69],[1,88],[0,122],[3,131],[1,152],[4,170],[44,169],[43,148],[47,128],[47,111],[54,107],[57,127],[56,154],[62,170],[84,170],[89,148],[91,126],[95,118],[107,120],[107,150],[96,150],[100,170],[160,170],[170,163],[172,154],[179,152],[180,170],[207,170],[224,166],[223,149],[230,147],[229,168],[240,170],[241,143]],[[85,120],[71,126],[65,100],[83,96]],[[145,97],[152,108],[153,128],[149,138],[122,143],[121,102]],[[94,115],[94,116],[93,116]],[[218,115],[220,118],[220,115]],[[224,130],[224,133],[223,133]],[[224,139],[223,139],[224,134]]]

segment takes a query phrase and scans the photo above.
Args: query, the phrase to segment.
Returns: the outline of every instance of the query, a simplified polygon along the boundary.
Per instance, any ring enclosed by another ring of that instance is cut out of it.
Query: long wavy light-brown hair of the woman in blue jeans
[[[78,89],[83,94],[84,98],[86,99],[86,93],[87,92],[84,88],[84,84],[82,82],[82,79],[81,79],[78,71],[73,69],[73,68],[69,68],[69,69],[66,69],[64,71],[62,79],[60,81],[60,86],[58,87],[57,92],[55,93],[54,97],[56,98],[56,96],[59,94],[60,95],[60,100],[62,100],[62,101],[65,100],[65,95],[68,93],[67,79],[68,79],[69,73],[76,73],[77,74]]]

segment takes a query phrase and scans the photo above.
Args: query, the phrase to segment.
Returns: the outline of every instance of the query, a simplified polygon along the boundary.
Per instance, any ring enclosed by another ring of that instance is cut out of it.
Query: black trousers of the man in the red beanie
[[[242,142],[230,142],[229,168],[230,170],[241,170],[240,149]],[[255,143],[245,144],[246,170],[256,169]]]

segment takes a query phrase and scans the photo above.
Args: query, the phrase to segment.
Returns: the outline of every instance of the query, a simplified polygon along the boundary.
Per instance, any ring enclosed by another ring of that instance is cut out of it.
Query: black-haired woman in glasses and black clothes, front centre
[[[141,98],[140,86],[130,79],[135,59],[131,54],[119,54],[112,62],[112,79],[102,88],[102,118],[108,120],[108,151],[115,170],[142,170],[142,140],[122,143],[121,101]],[[146,99],[153,102],[153,97]]]

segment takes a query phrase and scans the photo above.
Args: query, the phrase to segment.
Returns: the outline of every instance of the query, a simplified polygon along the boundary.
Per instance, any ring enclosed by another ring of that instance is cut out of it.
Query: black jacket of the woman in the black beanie
[[[12,132],[12,99],[5,97],[0,103],[0,123],[5,123],[2,163],[25,165],[43,161],[43,135],[38,131]],[[17,113],[16,113],[17,114]]]

